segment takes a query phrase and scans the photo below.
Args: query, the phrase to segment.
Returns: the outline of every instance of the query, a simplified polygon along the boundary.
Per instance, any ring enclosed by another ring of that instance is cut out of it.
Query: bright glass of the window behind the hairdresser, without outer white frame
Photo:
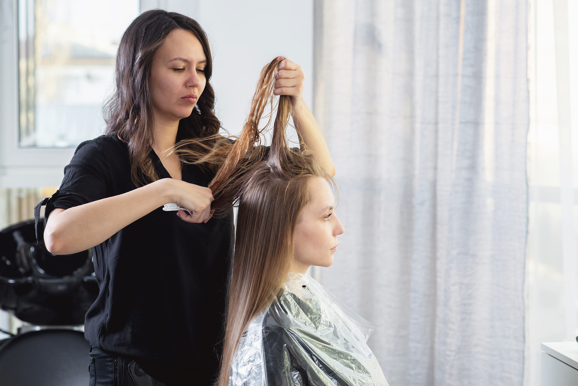
[[[76,147],[102,134],[120,38],[139,0],[18,1],[21,147]]]

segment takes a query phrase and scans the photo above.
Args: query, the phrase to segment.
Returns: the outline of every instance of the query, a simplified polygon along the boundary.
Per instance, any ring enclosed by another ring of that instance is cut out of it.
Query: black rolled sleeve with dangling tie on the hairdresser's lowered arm
[[[107,186],[110,183],[109,171],[106,154],[98,141],[90,139],[77,146],[71,162],[64,167],[64,178],[60,188],[34,208],[38,245],[45,246],[44,228],[54,208],[69,209],[106,197]],[[44,220],[39,224],[40,207],[43,205],[46,205]]]

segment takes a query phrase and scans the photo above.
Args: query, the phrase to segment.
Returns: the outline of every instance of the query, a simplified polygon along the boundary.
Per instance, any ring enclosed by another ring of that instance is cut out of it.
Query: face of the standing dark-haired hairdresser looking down
[[[197,36],[173,30],[153,58],[150,94],[155,121],[169,123],[191,115],[205,89],[206,57]]]

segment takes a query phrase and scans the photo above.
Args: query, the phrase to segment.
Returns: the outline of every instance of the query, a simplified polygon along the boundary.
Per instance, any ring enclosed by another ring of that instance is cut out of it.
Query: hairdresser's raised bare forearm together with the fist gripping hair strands
[[[291,115],[295,129],[303,138],[307,148],[315,153],[321,166],[331,175],[335,175],[335,166],[331,160],[329,149],[325,143],[325,138],[319,128],[315,117],[303,101],[303,82],[305,75],[301,66],[285,59],[277,64],[277,74],[275,75],[275,85],[273,94],[290,95]]]

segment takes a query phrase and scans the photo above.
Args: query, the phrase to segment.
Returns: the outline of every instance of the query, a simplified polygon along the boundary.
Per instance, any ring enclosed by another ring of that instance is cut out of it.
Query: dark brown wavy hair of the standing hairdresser
[[[143,12],[128,26],[118,45],[114,71],[115,90],[103,108],[105,134],[116,134],[128,144],[131,179],[136,186],[157,181],[149,156],[153,141],[153,106],[149,80],[154,54],[173,30],[192,32],[203,47],[206,85],[190,116],[179,122],[177,141],[210,137],[221,123],[214,114],[214,92],[209,83],[213,71],[209,41],[197,21],[176,12],[153,9]],[[196,144],[191,150],[201,151]]]

